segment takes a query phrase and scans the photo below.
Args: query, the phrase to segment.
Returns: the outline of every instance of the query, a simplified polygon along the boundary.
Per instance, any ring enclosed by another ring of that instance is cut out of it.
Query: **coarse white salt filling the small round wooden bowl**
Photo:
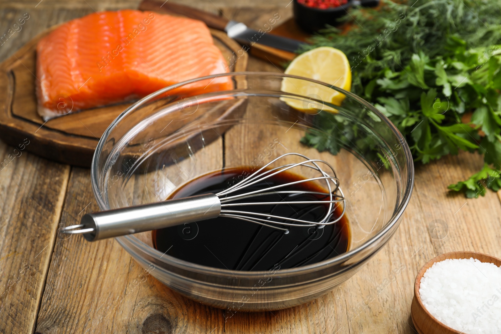
[[[440,322],[465,334],[501,333],[501,268],[477,259],[435,262],[419,296]]]

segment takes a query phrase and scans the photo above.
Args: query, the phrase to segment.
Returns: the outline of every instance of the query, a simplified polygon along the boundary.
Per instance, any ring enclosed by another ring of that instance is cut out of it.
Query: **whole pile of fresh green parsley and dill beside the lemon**
[[[354,27],[346,34],[329,28],[304,51],[343,51],[352,66],[352,91],[398,127],[416,162],[459,150],[483,155],[484,168],[449,189],[467,197],[483,196],[484,186],[499,189],[501,2],[381,1],[379,10],[353,10],[347,20]],[[322,124],[327,133],[339,130],[332,122]],[[330,140],[310,133],[302,142],[322,150]]]

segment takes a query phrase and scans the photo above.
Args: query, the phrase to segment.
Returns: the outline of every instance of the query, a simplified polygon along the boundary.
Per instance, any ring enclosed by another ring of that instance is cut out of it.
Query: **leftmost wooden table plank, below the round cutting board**
[[[0,143],[3,333],[33,331],[70,170],[69,166],[30,155],[22,147]]]

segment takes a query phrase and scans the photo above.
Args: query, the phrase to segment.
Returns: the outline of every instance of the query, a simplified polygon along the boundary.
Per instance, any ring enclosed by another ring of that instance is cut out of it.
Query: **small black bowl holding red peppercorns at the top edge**
[[[294,0],[294,18],[297,25],[307,33],[315,33],[325,26],[339,26],[341,18],[348,14],[348,9],[353,6],[376,7],[379,0],[350,0],[347,4],[339,7],[319,9],[308,7]]]

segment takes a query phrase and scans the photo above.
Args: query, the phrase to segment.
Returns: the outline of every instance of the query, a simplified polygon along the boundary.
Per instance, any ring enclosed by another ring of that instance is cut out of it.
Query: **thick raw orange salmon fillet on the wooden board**
[[[38,43],[38,112],[48,120],[226,72],[201,21],[133,10],[94,13],[61,25]],[[223,77],[176,93],[232,88]]]

